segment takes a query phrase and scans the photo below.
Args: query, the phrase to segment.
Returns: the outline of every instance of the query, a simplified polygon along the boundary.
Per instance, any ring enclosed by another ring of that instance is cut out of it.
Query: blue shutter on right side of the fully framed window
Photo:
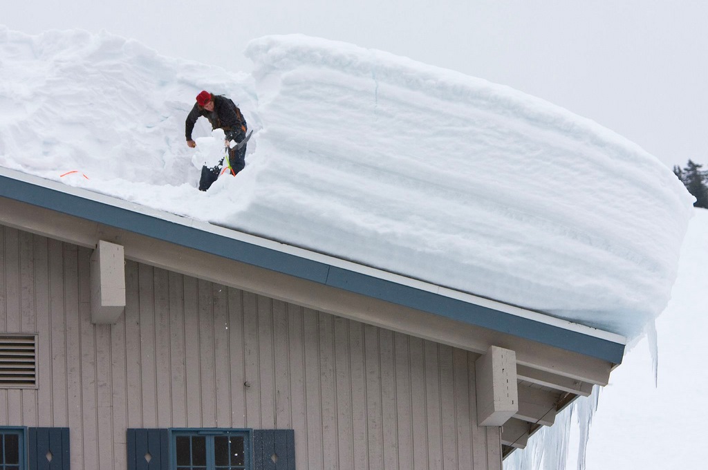
[[[253,469],[295,470],[295,431],[254,429]]]

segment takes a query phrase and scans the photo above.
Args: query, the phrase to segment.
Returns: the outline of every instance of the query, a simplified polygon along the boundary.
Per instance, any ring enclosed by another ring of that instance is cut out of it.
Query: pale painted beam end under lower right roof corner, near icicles
[[[501,426],[519,411],[516,354],[513,350],[490,346],[474,362],[474,369],[477,423]]]

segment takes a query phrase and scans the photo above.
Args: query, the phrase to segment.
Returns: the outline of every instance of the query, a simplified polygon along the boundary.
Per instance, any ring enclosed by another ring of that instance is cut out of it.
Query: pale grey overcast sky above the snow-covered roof
[[[0,24],[107,30],[233,71],[250,71],[243,50],[263,35],[343,40],[512,86],[667,166],[708,169],[707,18],[704,0],[25,0]]]

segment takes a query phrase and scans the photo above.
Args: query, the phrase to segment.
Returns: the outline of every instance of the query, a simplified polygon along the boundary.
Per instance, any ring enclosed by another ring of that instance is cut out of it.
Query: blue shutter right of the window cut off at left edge
[[[69,428],[28,428],[31,470],[69,470]]]

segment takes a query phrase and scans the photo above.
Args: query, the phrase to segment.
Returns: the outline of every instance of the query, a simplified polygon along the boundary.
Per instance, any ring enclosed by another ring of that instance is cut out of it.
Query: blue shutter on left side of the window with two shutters
[[[128,470],[169,470],[168,430],[128,429],[126,447]]]

